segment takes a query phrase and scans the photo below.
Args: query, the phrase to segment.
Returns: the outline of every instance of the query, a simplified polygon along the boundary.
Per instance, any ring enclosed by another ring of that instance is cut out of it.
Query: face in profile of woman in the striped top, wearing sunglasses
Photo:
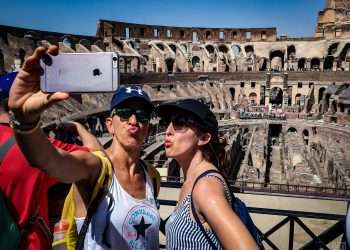
[[[187,160],[199,150],[202,133],[189,115],[176,113],[162,123],[166,126],[164,146],[167,157]]]

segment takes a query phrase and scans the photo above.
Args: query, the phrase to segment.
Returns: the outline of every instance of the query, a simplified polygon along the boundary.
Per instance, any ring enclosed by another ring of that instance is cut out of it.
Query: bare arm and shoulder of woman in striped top
[[[224,249],[258,249],[248,229],[226,200],[223,185],[219,180],[200,180],[193,191],[193,199],[196,210],[206,218]]]

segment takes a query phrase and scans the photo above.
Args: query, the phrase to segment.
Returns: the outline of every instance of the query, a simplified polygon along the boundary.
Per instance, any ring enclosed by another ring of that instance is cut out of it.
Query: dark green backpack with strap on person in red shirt
[[[14,138],[10,137],[0,145],[0,162],[14,144]],[[0,191],[0,249],[14,250],[19,248],[21,230],[11,215],[6,201],[5,195]]]

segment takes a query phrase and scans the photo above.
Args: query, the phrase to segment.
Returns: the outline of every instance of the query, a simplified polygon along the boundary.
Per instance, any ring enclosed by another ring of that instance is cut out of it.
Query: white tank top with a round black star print
[[[84,249],[159,249],[160,217],[147,171],[146,198],[129,195],[113,174],[109,192],[91,219]]]

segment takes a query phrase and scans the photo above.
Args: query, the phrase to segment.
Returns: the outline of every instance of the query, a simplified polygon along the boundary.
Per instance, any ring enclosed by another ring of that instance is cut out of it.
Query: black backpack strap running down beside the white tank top
[[[98,190],[98,193],[95,197],[95,199],[91,202],[90,206],[88,207],[88,211],[86,213],[86,217],[84,219],[84,223],[80,229],[80,232],[78,234],[77,244],[75,246],[76,250],[82,250],[84,249],[84,241],[85,241],[85,235],[89,229],[89,224],[91,222],[92,216],[97,210],[98,204],[100,203],[101,199],[105,196],[106,192],[108,191],[108,178],[109,176],[106,174],[106,177],[103,181],[102,187]]]

